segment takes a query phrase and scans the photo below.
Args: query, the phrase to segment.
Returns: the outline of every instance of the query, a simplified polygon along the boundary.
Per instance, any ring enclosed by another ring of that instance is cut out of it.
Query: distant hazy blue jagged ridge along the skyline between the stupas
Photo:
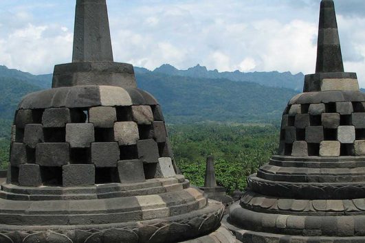
[[[149,72],[147,69],[142,68],[135,68],[135,71],[136,73]],[[264,86],[294,89],[295,91],[302,91],[304,82],[303,73],[298,73],[296,75],[293,75],[290,72],[279,73],[278,71],[254,73],[243,73],[241,71],[225,71],[220,73],[217,70],[208,71],[206,67],[200,65],[190,67],[187,70],[179,70],[171,65],[165,64],[155,69],[153,73],[164,73],[168,76],[183,76],[191,78],[225,78],[237,82],[254,82],[256,84],[262,84]]]

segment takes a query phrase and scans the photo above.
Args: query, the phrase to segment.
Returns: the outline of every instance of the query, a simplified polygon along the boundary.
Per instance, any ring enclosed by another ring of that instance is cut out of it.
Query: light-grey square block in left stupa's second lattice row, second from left
[[[91,143],[95,141],[93,124],[67,124],[66,141],[71,148],[89,148]]]

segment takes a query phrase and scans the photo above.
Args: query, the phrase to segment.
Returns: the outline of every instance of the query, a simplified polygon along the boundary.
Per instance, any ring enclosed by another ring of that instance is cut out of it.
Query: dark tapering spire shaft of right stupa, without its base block
[[[320,4],[316,73],[343,72],[340,37],[332,0]]]

